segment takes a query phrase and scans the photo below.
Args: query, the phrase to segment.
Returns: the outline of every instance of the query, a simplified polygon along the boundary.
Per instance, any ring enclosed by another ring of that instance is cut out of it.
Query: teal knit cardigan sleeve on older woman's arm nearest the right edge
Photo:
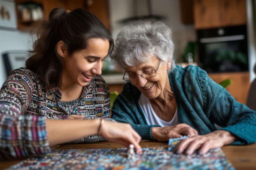
[[[256,111],[237,102],[225,88],[215,83],[207,75],[205,79],[204,84],[208,85],[205,89],[202,88],[202,93],[207,93],[204,96],[211,101],[207,107],[209,119],[221,126],[220,130],[226,130],[240,138],[232,142],[231,145],[256,142]]]

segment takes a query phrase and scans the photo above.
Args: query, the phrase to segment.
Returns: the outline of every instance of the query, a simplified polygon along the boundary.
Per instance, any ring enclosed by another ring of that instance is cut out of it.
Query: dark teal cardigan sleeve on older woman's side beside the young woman
[[[152,127],[161,126],[146,124],[138,107],[138,104],[132,99],[132,94],[126,84],[122,93],[114,101],[111,118],[118,122],[131,124],[132,128],[141,136],[142,140],[152,140]]]

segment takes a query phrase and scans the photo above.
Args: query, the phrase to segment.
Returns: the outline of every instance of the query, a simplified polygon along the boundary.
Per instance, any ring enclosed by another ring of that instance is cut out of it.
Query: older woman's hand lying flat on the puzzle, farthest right
[[[209,149],[228,145],[237,139],[238,137],[235,137],[228,131],[217,130],[207,135],[197,135],[183,139],[177,146],[176,152],[183,153],[185,151],[187,155],[191,155],[196,149],[200,148],[198,153],[205,154],[209,151]]]

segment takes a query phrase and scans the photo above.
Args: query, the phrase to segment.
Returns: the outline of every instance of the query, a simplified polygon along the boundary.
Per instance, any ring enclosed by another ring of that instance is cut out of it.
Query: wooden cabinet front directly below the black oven
[[[217,83],[226,79],[231,79],[232,84],[230,84],[226,89],[236,101],[246,104],[248,91],[250,88],[249,72],[209,73],[208,75],[213,81]]]

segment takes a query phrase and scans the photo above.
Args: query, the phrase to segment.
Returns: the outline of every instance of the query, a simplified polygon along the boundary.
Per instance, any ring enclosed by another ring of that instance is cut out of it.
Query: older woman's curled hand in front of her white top
[[[169,138],[180,138],[183,135],[195,136],[198,135],[198,132],[193,127],[180,123],[174,126],[152,127],[151,135],[154,140],[163,142]]]

